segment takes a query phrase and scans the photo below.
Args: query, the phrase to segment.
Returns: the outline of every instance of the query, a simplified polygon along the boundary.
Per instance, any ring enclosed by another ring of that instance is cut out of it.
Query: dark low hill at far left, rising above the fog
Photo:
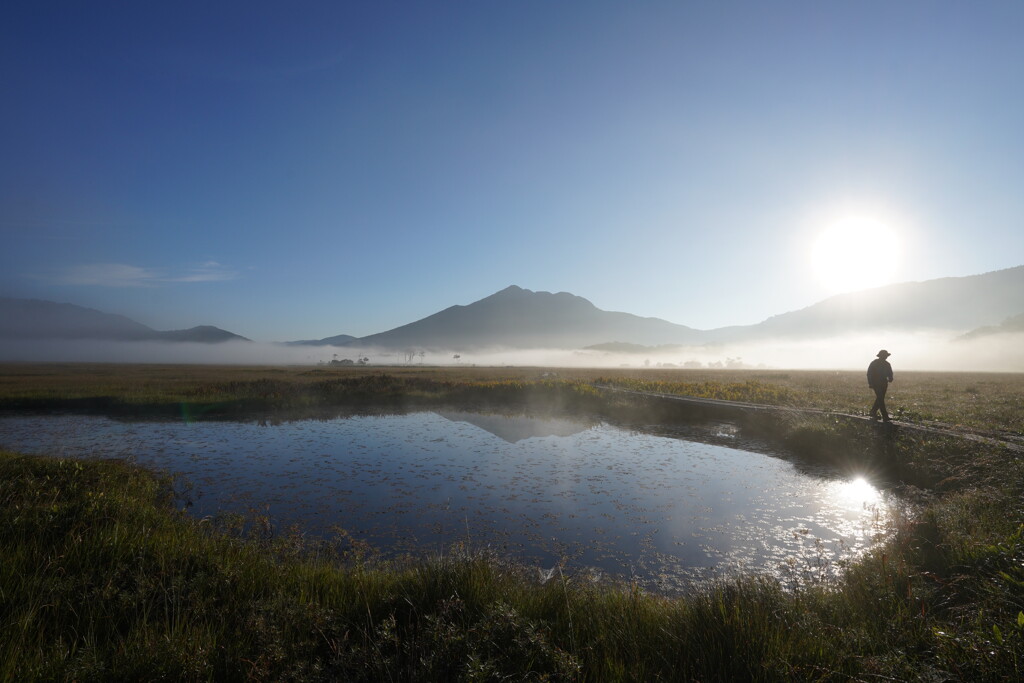
[[[203,325],[160,332],[130,317],[93,308],[40,299],[0,298],[0,339],[103,339],[116,341],[177,341],[215,343],[249,341],[240,335]]]

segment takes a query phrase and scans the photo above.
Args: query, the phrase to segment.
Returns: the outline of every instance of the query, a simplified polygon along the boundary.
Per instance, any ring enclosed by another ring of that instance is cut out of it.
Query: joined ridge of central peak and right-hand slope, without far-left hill
[[[565,292],[531,292],[512,286],[469,305],[452,306],[415,323],[336,345],[458,350],[684,346],[820,339],[871,330],[963,332],[994,325],[1021,310],[1024,266],[841,294],[757,325],[709,331],[601,310]],[[336,343],[328,340],[323,341]]]

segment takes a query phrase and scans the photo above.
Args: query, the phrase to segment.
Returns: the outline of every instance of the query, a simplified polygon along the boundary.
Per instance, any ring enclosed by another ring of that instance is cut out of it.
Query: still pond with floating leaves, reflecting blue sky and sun
[[[863,479],[801,470],[714,438],[459,412],[250,422],[0,418],[0,446],[121,457],[191,482],[189,513],[344,528],[385,554],[456,544],[663,592],[736,572],[830,575],[894,505]],[[717,441],[717,442],[708,442]]]

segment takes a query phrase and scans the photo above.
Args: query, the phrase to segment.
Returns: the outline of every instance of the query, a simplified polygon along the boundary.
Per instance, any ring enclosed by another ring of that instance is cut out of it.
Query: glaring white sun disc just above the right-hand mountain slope
[[[811,263],[830,292],[854,292],[893,282],[899,239],[885,223],[868,216],[844,216],[818,236]]]

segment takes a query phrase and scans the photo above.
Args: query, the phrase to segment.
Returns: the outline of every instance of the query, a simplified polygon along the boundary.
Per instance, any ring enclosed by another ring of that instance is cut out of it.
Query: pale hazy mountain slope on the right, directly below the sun
[[[888,285],[830,297],[757,325],[708,333],[717,342],[821,338],[865,330],[957,330],[1024,310],[1024,265],[966,278]]]

